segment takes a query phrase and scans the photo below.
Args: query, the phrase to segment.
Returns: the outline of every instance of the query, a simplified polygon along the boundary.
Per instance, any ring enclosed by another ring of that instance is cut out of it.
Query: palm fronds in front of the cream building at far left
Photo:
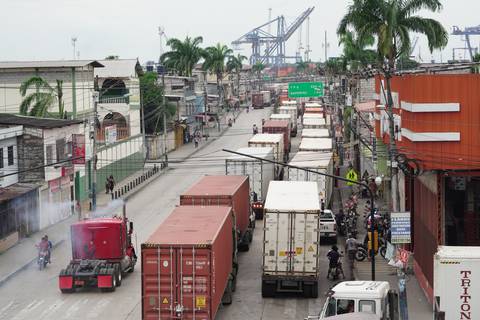
[[[54,87],[42,77],[35,76],[25,80],[20,85],[20,94],[23,97],[20,114],[45,117],[48,115],[48,110],[56,103],[59,117],[66,117],[62,86],[62,80],[56,80]],[[27,94],[30,89],[35,91]]]

